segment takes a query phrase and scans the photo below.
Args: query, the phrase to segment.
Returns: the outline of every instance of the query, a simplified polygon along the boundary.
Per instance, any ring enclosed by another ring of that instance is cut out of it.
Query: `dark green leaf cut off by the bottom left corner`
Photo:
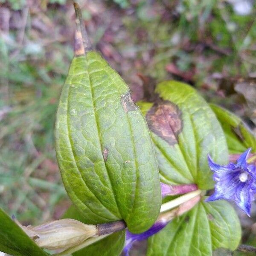
[[[14,256],[47,256],[0,208],[0,251]]]

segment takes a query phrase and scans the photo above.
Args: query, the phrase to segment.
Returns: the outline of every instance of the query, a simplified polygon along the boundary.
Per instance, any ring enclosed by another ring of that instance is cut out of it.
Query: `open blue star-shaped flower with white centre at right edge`
[[[214,193],[206,201],[234,200],[250,216],[251,202],[256,193],[256,166],[246,162],[250,150],[251,148],[241,154],[237,163],[229,163],[227,166],[214,163],[208,155],[209,167],[216,184]]]

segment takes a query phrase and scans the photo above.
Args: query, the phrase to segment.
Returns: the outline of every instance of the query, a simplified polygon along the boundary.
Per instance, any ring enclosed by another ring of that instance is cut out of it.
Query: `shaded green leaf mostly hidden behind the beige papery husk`
[[[86,219],[81,215],[77,208],[72,205],[67,209],[62,218],[73,218],[83,223],[86,223]],[[106,238],[97,241],[83,249],[73,253],[74,256],[119,256],[125,244],[125,230],[116,232],[107,236]]]

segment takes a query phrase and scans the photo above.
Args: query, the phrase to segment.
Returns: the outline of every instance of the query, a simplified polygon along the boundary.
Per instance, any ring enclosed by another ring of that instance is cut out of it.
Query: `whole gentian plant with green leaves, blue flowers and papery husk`
[[[55,125],[73,206],[63,219],[35,227],[0,209],[0,251],[128,256],[144,239],[147,256],[236,250],[241,226],[227,201],[250,214],[256,192],[250,129],[177,81],[157,84],[154,102],[135,105],[119,74],[92,49],[77,4],[75,10],[75,57]]]

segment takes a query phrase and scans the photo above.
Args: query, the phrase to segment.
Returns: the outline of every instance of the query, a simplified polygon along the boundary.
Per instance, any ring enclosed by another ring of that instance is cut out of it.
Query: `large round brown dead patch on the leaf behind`
[[[182,131],[181,111],[169,101],[154,104],[146,115],[148,128],[170,145],[178,143]]]

